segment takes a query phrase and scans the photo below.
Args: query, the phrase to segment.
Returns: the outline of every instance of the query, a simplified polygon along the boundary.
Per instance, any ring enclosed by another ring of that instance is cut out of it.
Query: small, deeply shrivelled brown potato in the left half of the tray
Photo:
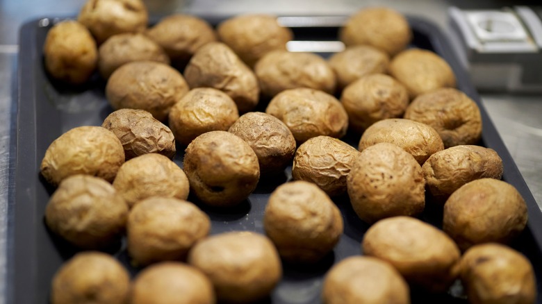
[[[126,160],[147,153],[158,153],[167,158],[175,156],[172,131],[145,110],[116,110],[101,126],[119,138]]]

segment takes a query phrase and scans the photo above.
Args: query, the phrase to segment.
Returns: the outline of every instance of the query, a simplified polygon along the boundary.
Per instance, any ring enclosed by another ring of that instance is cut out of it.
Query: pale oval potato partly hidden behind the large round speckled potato
[[[379,142],[400,146],[422,165],[429,156],[444,150],[441,137],[431,126],[410,119],[383,119],[372,124],[359,140],[359,151]]]

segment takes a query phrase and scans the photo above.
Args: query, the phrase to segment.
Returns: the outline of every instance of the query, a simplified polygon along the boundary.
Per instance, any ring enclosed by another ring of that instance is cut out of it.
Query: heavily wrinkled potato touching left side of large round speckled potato
[[[295,152],[292,177],[315,183],[329,196],[346,192],[346,177],[359,151],[329,136],[307,140]]]

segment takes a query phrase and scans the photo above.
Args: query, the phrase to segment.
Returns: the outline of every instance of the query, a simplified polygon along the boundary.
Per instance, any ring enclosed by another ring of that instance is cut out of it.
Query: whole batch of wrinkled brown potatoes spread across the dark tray
[[[47,35],[48,75],[103,78],[114,110],[42,160],[56,187],[47,228],[81,250],[56,273],[51,303],[261,300],[284,263],[334,250],[340,201],[370,228],[359,253],[329,269],[324,303],[410,303],[411,289],[447,292],[458,279],[471,303],[534,303],[532,265],[506,245],[526,226],[525,201],[500,180],[499,155],[477,145],[477,104],[443,58],[408,48],[400,13],[356,12],[329,59],[288,51],[293,32],[270,15],[147,23],[140,0],[95,0]],[[347,133],[357,146],[340,140]],[[290,165],[293,180],[265,205],[265,234],[210,235],[200,207],[234,208]],[[426,203],[443,210],[443,230],[417,218]],[[122,239],[133,280],[103,253]]]

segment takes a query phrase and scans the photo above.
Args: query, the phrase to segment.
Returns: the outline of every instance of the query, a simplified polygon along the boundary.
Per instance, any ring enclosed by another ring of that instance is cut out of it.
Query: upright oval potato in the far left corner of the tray
[[[88,81],[98,62],[96,42],[76,21],[59,22],[45,37],[45,69],[53,78],[73,85]]]

